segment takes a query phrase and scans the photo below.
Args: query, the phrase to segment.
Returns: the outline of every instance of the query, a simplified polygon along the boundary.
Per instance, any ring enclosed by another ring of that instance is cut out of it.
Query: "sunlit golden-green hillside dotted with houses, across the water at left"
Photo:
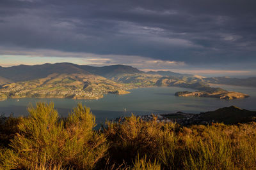
[[[55,97],[72,99],[98,99],[103,94],[126,94],[131,89],[122,83],[116,83],[93,74],[50,74],[46,78],[19,81],[3,85],[0,98]]]

